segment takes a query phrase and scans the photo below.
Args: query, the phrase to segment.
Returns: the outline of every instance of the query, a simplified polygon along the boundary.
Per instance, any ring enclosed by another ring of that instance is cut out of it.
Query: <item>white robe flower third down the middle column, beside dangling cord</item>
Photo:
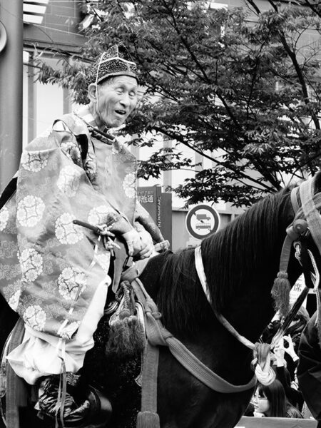
[[[79,288],[83,292],[85,287],[85,274],[72,267],[65,267],[58,277],[58,290],[66,300],[76,300]]]

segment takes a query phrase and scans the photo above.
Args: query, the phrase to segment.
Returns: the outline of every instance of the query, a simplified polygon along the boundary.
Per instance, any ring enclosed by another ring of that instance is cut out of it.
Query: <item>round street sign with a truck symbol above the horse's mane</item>
[[[196,239],[204,239],[220,227],[220,215],[210,205],[200,204],[191,208],[185,219],[188,233]]]

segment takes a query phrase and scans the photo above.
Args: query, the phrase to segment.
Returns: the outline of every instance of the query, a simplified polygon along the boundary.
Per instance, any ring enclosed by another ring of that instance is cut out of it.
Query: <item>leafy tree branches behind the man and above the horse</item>
[[[253,0],[230,10],[210,10],[208,1],[86,3],[93,21],[83,58],[123,41],[141,72],[144,94],[123,131],[136,136],[133,144],[151,146],[158,134],[173,141],[141,162],[141,176],[192,168],[185,146],[211,166],[185,180],[178,195],[249,205],[319,168],[321,12],[314,1],[269,0],[264,12]],[[85,68],[66,58],[60,71],[43,64],[39,79],[68,86],[83,103]]]

